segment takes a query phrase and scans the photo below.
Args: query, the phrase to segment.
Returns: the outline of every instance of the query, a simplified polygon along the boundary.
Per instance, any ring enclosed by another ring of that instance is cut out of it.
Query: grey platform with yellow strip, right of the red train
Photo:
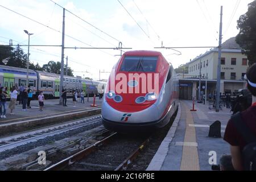
[[[196,104],[197,111],[191,111],[191,101],[180,101],[174,124],[147,171],[210,171],[213,154],[217,164],[223,154],[230,154],[223,137],[232,113],[226,108],[216,113],[207,104]],[[221,122],[221,138],[210,138],[209,126],[217,120]]]

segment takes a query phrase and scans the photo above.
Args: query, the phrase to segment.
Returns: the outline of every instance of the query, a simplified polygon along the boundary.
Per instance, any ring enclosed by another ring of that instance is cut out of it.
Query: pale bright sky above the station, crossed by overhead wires
[[[65,7],[65,47],[118,47],[163,53],[174,68],[209,48],[218,46],[220,7],[223,6],[222,42],[236,36],[237,20],[253,0],[52,0]],[[0,44],[61,45],[63,9],[50,0],[0,0]],[[122,4],[122,5],[121,5]],[[127,11],[128,13],[127,13]],[[87,23],[86,23],[87,22]],[[22,47],[27,52],[27,47]],[[129,51],[129,49],[123,49]],[[114,49],[65,49],[75,76],[108,79],[120,55]],[[61,47],[30,47],[30,61],[41,66],[61,61]],[[99,72],[101,73],[99,75]]]

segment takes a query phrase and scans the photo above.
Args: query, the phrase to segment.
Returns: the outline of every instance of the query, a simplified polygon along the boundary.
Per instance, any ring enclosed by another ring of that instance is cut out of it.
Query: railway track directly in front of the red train
[[[146,136],[113,133],[92,146],[44,169],[44,171],[123,170],[131,164],[148,143],[149,138]]]

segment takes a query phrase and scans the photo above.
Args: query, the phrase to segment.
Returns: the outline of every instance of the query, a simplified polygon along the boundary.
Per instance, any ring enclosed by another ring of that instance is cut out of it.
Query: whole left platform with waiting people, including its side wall
[[[68,98],[67,107],[64,107],[59,105],[59,99],[45,100],[43,111],[40,111],[38,101],[33,100],[31,101],[31,109],[27,109],[27,111],[22,110],[22,105],[16,105],[13,111],[14,115],[10,115],[9,102],[7,102],[7,118],[0,118],[0,136],[33,129],[33,127],[39,125],[48,125],[67,121],[67,119],[100,114],[102,101],[96,97],[95,104],[97,107],[92,107],[93,97],[89,98],[89,102],[85,98],[84,104],[80,103],[79,98],[74,106],[72,98]]]

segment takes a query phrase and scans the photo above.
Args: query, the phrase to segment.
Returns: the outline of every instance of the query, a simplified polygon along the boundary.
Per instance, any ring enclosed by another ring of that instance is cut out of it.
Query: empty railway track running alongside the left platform
[[[3,137],[0,138],[0,152],[22,146],[30,142],[36,142],[37,140],[44,139],[46,137],[76,130],[84,126],[93,125],[95,123],[101,123],[101,115],[94,115],[93,117],[86,117],[75,121],[26,131],[9,137]]]

